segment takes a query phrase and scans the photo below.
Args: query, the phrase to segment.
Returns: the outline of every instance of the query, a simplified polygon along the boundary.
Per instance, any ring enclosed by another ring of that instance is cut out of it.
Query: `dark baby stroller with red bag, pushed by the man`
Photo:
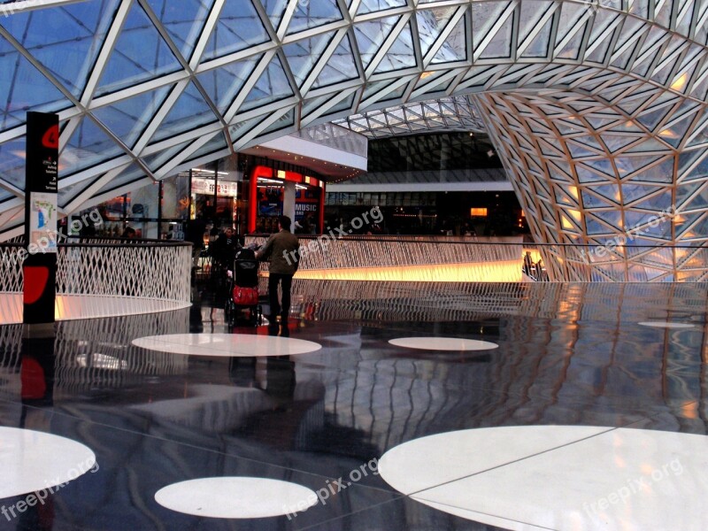
[[[236,255],[230,280],[224,320],[233,327],[238,314],[248,310],[250,324],[258,326],[263,310],[258,304],[258,260],[252,249],[242,249]]]

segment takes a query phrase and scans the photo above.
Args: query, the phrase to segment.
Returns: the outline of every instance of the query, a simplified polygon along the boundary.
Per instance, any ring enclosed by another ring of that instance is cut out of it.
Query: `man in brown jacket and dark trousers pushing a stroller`
[[[297,236],[290,232],[290,219],[288,216],[278,218],[279,232],[271,235],[261,250],[256,253],[256,258],[268,260],[271,265],[268,275],[268,297],[271,304],[271,323],[275,323],[278,314],[281,315],[281,324],[288,324],[290,313],[290,286],[293,275],[297,270],[296,252],[300,248]],[[294,259],[295,258],[295,259]],[[278,303],[278,284],[282,281],[282,312]]]

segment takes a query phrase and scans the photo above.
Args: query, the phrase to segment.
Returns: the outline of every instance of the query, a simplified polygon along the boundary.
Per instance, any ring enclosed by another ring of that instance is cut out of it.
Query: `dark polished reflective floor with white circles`
[[[0,327],[0,427],[82,445],[55,481],[61,444],[38,466],[39,435],[0,429],[0,530],[705,528],[708,285],[293,300],[287,327],[228,329],[209,286],[53,339]]]

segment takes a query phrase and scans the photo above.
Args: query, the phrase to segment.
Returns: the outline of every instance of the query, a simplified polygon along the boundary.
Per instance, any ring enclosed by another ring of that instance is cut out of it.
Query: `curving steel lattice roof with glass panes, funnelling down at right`
[[[476,109],[458,121],[486,125],[539,241],[606,242],[668,207],[640,243],[706,240],[708,0],[50,0],[2,15],[6,236],[30,110],[59,113],[73,212],[301,127],[446,98],[420,113]]]

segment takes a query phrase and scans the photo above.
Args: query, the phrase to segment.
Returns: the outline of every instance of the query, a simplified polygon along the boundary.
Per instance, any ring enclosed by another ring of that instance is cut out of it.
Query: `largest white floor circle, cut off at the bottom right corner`
[[[612,427],[493,427],[387,451],[412,499],[506,529],[703,529],[708,437]]]

